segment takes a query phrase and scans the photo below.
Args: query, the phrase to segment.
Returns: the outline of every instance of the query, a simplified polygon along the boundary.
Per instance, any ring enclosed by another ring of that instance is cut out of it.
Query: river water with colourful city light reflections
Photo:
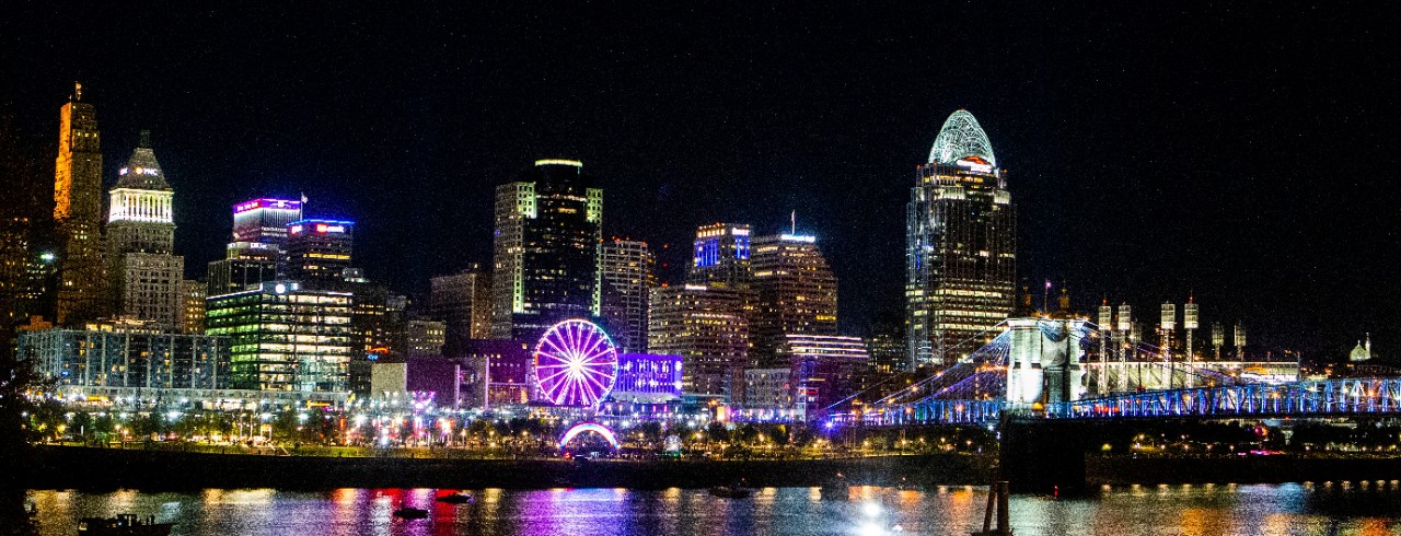
[[[726,500],[705,490],[472,490],[475,504],[436,502],[447,490],[324,493],[32,491],[43,535],[76,533],[81,516],[130,512],[174,522],[174,535],[968,535],[981,529],[985,487],[908,491],[762,488]],[[401,504],[429,519],[395,521]],[[1035,535],[1401,535],[1401,486],[1304,483],[1101,488],[1083,498],[1013,495],[1012,526]],[[885,530],[885,532],[881,532]]]

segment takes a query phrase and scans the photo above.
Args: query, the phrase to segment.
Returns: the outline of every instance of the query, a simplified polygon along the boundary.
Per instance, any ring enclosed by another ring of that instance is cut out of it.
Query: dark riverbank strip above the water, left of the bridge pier
[[[909,455],[799,460],[587,460],[326,458],[38,446],[29,488],[340,487],[552,488],[808,487],[838,473],[850,484],[986,484],[991,455]],[[902,480],[904,479],[904,480]]]

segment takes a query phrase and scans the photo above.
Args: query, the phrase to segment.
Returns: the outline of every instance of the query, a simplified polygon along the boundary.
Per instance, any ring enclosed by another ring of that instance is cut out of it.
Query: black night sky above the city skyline
[[[493,185],[573,158],[605,235],[670,245],[668,281],[698,224],[796,210],[862,334],[904,306],[915,167],[965,108],[1010,171],[1019,278],[1152,320],[1192,292],[1262,347],[1341,357],[1372,332],[1401,357],[1395,10],[56,4],[0,17],[0,112],[52,169],[83,81],[108,185],[153,130],[191,277],[233,203],[305,193],[359,223],[371,278],[422,292],[490,260]]]

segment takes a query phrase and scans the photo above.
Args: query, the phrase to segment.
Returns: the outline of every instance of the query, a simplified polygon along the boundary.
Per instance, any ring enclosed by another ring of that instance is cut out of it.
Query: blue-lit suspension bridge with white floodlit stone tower
[[[1401,414],[1401,378],[1302,381],[1295,361],[1199,361],[1083,319],[1009,319],[958,364],[832,425]]]

